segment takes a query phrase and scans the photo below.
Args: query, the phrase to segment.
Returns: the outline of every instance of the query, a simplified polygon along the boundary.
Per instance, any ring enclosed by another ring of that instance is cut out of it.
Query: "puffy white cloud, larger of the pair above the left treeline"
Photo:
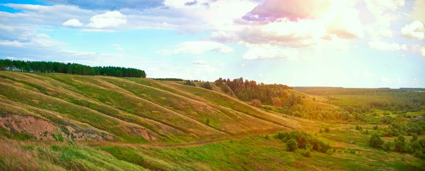
[[[116,27],[125,23],[127,23],[125,15],[121,14],[119,11],[108,11],[104,14],[93,16],[87,26],[94,28],[104,28]]]

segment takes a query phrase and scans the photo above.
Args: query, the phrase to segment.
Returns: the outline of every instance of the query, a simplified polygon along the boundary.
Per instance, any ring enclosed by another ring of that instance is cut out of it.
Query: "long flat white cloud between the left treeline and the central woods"
[[[195,54],[200,55],[205,52],[214,53],[231,53],[233,48],[226,46],[221,43],[208,42],[208,41],[191,41],[184,42],[176,45],[176,48],[172,50],[159,50],[158,54],[169,55],[169,54]]]

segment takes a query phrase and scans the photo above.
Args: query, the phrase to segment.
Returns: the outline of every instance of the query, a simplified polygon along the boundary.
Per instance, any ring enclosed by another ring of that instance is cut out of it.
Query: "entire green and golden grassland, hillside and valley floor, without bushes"
[[[0,71],[0,170],[425,170],[413,151],[369,143],[373,133],[400,125],[410,146],[412,128],[425,125],[412,119],[425,115],[422,91],[295,88],[288,92],[304,96],[298,106],[304,115],[297,117],[200,84]],[[348,106],[346,120],[308,115],[312,108],[347,112]],[[357,110],[361,117],[354,117]],[[288,150],[274,135],[292,130],[331,150]]]

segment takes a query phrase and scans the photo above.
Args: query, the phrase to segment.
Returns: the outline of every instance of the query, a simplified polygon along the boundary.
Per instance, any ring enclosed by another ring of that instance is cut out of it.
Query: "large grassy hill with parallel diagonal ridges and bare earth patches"
[[[168,81],[1,71],[0,85],[0,124],[37,139],[61,134],[70,140],[178,143],[311,127],[308,120]],[[31,122],[20,123],[23,117]],[[34,131],[36,124],[48,127]]]

